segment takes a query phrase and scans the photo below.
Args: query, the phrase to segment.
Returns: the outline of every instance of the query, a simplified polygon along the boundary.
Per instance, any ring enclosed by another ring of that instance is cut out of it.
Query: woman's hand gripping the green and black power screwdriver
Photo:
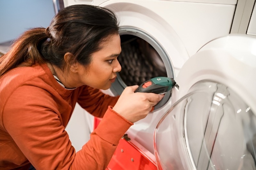
[[[138,87],[126,87],[113,107],[114,111],[133,123],[145,118],[152,107],[164,97],[154,93],[134,93]]]

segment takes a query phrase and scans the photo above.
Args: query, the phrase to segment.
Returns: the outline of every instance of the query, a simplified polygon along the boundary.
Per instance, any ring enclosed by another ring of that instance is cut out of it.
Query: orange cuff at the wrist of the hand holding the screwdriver
[[[100,124],[92,133],[96,133],[103,140],[117,145],[121,137],[133,123],[116,113],[112,108],[108,106],[108,110],[100,121]]]

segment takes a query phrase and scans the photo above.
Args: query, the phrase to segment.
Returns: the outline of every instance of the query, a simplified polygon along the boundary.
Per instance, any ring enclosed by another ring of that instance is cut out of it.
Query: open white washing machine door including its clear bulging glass
[[[228,35],[192,56],[154,132],[158,169],[256,169],[255,73],[253,37]]]

